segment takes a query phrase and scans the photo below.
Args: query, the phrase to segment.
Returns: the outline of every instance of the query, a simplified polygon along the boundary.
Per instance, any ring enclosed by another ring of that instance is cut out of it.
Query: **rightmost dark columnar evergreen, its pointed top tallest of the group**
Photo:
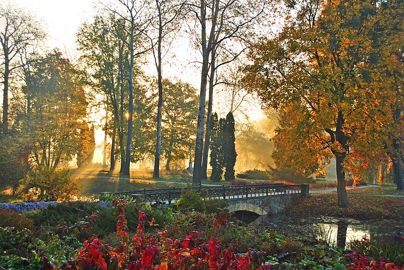
[[[224,179],[226,181],[234,180],[234,165],[236,164],[236,145],[234,136],[234,117],[231,112],[226,116],[223,126],[223,155],[224,166],[226,166],[226,172]]]

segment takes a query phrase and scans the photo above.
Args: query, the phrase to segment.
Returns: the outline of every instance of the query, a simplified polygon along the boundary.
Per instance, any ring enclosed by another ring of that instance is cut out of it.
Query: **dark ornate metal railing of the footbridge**
[[[253,184],[253,185],[235,185],[235,186],[198,186],[183,188],[162,188],[162,189],[143,189],[127,192],[102,192],[101,194],[112,194],[114,196],[131,196],[144,200],[148,204],[163,203],[171,205],[175,199],[179,199],[181,194],[194,190],[203,192],[207,198],[236,199],[263,197],[280,194],[309,193],[308,184]]]

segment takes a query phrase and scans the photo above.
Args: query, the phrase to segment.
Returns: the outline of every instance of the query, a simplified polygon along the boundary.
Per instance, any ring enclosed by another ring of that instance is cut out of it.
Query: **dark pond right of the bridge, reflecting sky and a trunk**
[[[363,237],[371,241],[402,243],[404,223],[391,220],[358,220],[332,217],[296,217],[284,214],[266,216],[258,227],[265,227],[285,235],[305,235],[327,238],[329,242],[345,247],[352,240]]]

